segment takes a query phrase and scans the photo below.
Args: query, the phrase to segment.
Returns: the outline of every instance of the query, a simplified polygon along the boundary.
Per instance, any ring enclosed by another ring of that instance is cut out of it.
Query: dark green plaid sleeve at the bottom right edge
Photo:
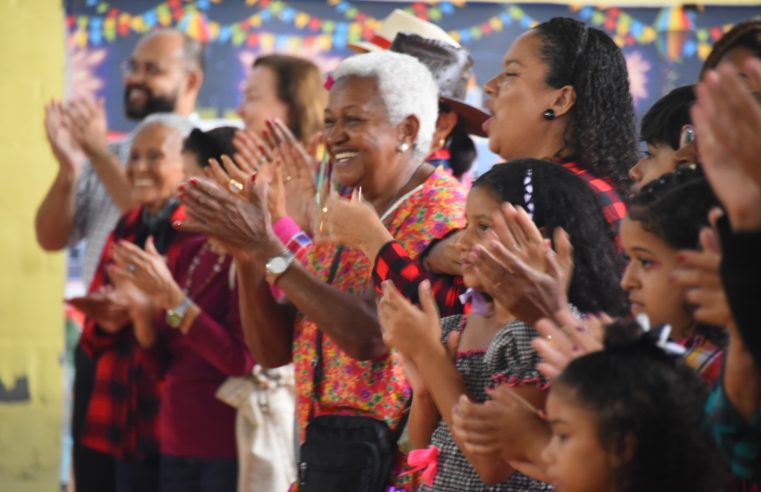
[[[761,481],[761,408],[745,420],[724,392],[714,386],[706,402],[706,427],[732,469],[732,474]]]

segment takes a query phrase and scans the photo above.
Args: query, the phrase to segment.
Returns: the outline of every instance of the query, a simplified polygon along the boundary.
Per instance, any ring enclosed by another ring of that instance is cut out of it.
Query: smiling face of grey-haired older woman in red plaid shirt
[[[132,141],[127,179],[139,205],[158,212],[183,180],[182,136],[161,123],[144,127]]]

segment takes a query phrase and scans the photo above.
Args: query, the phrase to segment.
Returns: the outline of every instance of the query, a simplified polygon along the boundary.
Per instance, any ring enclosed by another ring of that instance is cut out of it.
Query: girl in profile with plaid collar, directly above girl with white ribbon
[[[726,331],[699,324],[686,289],[672,281],[680,250],[699,247],[708,212],[719,206],[699,169],[665,174],[632,198],[621,223],[621,243],[630,257],[621,279],[632,314],[646,314],[653,325],[668,323],[684,345],[687,364],[712,384],[721,372]]]

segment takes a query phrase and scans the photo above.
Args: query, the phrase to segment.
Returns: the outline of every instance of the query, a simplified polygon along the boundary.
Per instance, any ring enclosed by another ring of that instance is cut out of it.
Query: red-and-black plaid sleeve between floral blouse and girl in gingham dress
[[[373,284],[378,293],[381,292],[381,282],[391,280],[405,298],[419,304],[418,286],[426,279],[431,282],[441,317],[469,311],[469,306],[460,302],[460,294],[466,290],[461,276],[435,275],[427,271],[396,241],[386,243],[375,258]]]

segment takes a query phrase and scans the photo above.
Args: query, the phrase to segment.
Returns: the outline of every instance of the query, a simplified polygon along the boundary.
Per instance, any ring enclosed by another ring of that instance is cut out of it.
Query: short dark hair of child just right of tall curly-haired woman
[[[666,144],[679,149],[684,125],[692,123],[690,108],[695,104],[695,86],[677,87],[658,101],[642,118],[639,138],[651,145]]]

